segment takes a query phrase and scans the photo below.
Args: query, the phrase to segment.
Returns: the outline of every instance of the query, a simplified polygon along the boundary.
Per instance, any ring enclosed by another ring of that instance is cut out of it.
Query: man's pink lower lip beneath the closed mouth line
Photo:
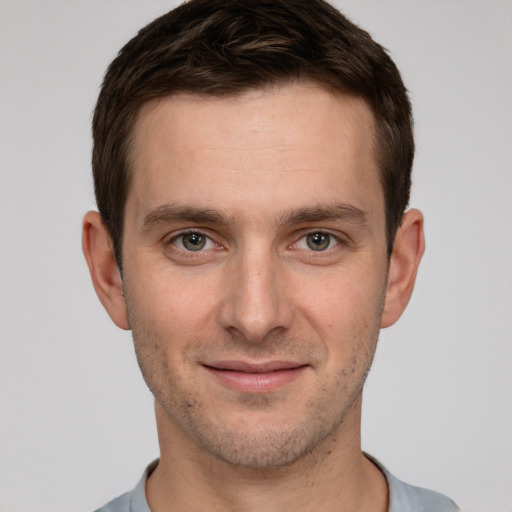
[[[286,368],[265,373],[249,373],[235,370],[219,370],[211,366],[205,368],[212,373],[224,386],[244,393],[265,393],[294,381],[307,366]]]

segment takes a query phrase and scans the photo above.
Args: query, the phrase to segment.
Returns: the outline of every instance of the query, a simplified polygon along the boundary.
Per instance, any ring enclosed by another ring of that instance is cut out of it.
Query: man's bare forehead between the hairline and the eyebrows
[[[364,207],[381,195],[374,132],[363,100],[313,85],[160,98],[134,128],[127,207],[187,197],[242,210],[347,199]]]

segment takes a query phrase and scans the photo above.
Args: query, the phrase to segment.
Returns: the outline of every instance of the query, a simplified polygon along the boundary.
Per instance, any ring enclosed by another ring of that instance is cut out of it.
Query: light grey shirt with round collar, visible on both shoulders
[[[384,474],[389,487],[388,512],[460,512],[450,499],[435,491],[415,487],[395,478],[373,457],[366,455]],[[96,512],[151,512],[146,500],[146,480],[158,465],[153,461],[133,491],[122,494]]]

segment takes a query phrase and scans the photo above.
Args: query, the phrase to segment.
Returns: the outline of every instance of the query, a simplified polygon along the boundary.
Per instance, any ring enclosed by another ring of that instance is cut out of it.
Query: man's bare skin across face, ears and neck
[[[424,241],[411,210],[386,255],[373,132],[307,84],[143,107],[122,278],[96,212],[83,246],[155,395],[153,511],[387,509],[361,392]]]

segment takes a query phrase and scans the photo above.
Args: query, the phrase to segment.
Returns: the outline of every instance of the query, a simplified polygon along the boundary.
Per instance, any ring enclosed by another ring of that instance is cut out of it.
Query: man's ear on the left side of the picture
[[[129,329],[123,282],[112,247],[110,235],[100,214],[87,213],[82,224],[82,250],[89,266],[92,284],[112,321],[121,329]]]

